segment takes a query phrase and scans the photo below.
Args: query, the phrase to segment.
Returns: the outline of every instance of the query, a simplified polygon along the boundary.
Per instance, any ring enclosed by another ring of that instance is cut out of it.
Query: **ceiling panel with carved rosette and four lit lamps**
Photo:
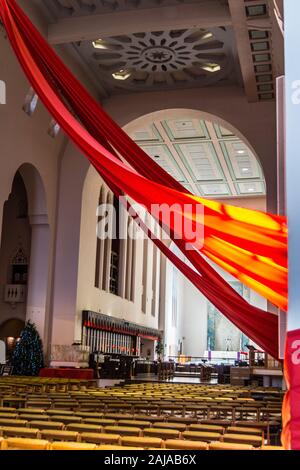
[[[95,38],[73,44],[108,93],[235,81],[231,28],[184,29]]]

